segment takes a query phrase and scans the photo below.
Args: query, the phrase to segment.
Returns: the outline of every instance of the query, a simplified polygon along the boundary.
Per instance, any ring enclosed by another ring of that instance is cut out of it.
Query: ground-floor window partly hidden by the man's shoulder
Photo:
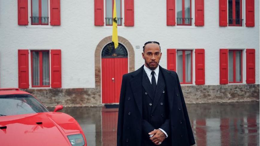
[[[192,84],[192,50],[177,50],[177,74],[180,83]]]

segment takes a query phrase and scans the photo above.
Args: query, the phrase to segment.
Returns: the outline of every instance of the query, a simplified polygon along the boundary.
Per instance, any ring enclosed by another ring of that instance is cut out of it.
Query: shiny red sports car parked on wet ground
[[[78,122],[66,113],[50,112],[30,93],[0,89],[1,146],[86,146]]]

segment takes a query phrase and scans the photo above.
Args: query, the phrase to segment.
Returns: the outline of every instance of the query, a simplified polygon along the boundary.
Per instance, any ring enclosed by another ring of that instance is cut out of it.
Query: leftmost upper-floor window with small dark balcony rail
[[[48,25],[48,0],[31,0],[31,24]]]

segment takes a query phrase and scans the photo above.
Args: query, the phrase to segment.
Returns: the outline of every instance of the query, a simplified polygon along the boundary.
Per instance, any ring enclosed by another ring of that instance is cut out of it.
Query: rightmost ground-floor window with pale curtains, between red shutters
[[[228,51],[229,83],[242,83],[242,50]]]

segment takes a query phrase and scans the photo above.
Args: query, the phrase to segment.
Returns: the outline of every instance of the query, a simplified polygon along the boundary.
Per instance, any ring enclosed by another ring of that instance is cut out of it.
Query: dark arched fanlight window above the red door
[[[114,43],[111,42],[109,44],[107,44],[101,53],[101,57],[102,58],[117,58],[117,57],[127,57],[127,50],[124,47],[124,45],[118,43],[118,47],[115,49],[114,48]]]

